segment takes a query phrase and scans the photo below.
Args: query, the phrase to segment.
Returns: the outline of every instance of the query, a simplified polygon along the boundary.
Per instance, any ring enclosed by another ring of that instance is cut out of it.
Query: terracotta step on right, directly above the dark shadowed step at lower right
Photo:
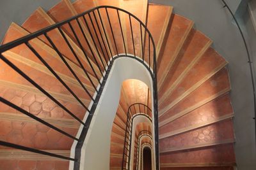
[[[232,128],[232,120],[229,119],[161,139],[159,142],[160,153],[234,143],[234,131]]]

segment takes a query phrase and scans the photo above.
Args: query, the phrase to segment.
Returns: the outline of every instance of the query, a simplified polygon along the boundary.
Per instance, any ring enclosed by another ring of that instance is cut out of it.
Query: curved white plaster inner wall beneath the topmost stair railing
[[[143,64],[128,57],[114,61],[84,141],[81,151],[81,170],[109,169],[111,128],[119,103],[121,85],[127,79],[141,80],[153,91],[151,76]],[[154,134],[154,131],[152,133]],[[76,143],[72,145],[72,157],[75,146]],[[73,169],[72,165],[73,162],[70,162],[70,169]]]

